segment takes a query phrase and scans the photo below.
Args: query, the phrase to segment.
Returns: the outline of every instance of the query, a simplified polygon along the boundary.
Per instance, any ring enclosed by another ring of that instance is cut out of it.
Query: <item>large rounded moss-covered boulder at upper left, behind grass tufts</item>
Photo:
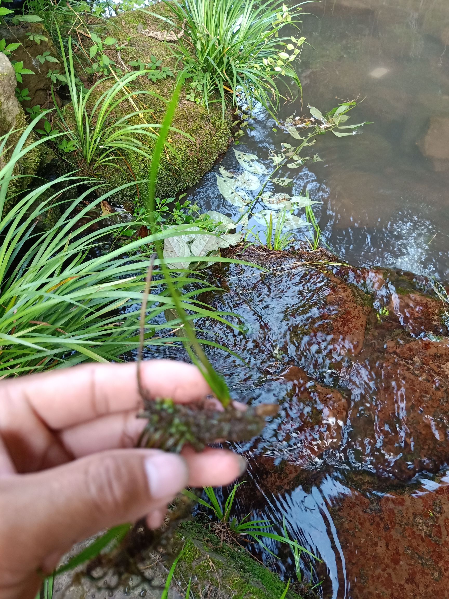
[[[158,11],[161,15],[169,11],[165,4],[153,5],[151,10]],[[183,65],[174,57],[175,44],[158,41],[141,31],[150,29],[157,31],[167,29],[168,26],[160,19],[152,16],[146,11],[128,11],[120,16],[101,21],[93,28],[93,31],[104,40],[106,37],[114,37],[121,50],[116,45],[104,46],[104,52],[110,60],[113,60],[122,73],[131,71],[130,62],[141,60],[142,63],[150,63],[151,57],[162,60],[162,66],[171,69],[174,76],[160,78],[153,82],[144,75],[136,79],[128,86],[129,90],[147,90],[154,95],[141,95],[135,98],[139,108],[150,109],[143,117],[134,116],[130,119],[133,124],[161,123],[165,116],[167,102],[172,96],[177,81],[177,75]],[[84,40],[83,40],[84,42]],[[86,49],[89,44],[86,44]],[[78,57],[80,53],[78,53]],[[94,59],[95,60],[95,59]],[[119,73],[120,74],[120,73]],[[95,90],[92,102],[98,98],[105,86],[113,85],[115,79],[112,77],[101,88]],[[222,155],[230,141],[230,113],[225,114],[223,119],[222,106],[220,102],[210,104],[209,110],[195,102],[186,99],[190,87],[184,86],[181,91],[180,101],[175,112],[172,126],[179,131],[186,132],[186,137],[179,132],[172,131],[169,134],[168,144],[163,153],[159,168],[156,193],[166,198],[175,196],[181,190],[196,184],[201,177],[207,173],[214,162]],[[65,108],[67,116],[70,116],[71,107]],[[124,101],[116,110],[117,116],[126,116],[135,111],[131,102]],[[140,138],[144,143],[145,152],[151,155],[154,140],[145,136]],[[118,187],[128,181],[140,181],[148,179],[150,160],[141,154],[134,152],[123,152],[122,158],[117,159],[117,167],[100,168],[94,174],[99,179],[107,181],[112,187]],[[132,201],[144,204],[146,198],[145,184],[136,184],[120,192],[116,201],[124,204]]]

